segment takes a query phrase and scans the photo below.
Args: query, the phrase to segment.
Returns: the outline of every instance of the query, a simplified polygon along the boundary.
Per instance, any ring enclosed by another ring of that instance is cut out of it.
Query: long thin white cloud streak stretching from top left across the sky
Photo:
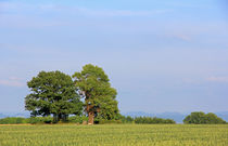
[[[0,10],[2,12],[11,12],[11,11],[49,11],[49,12],[61,12],[61,13],[71,13],[71,14],[83,14],[83,15],[91,15],[91,16],[151,16],[155,14],[169,13],[173,10],[164,9],[164,10],[151,10],[151,11],[132,11],[132,10],[93,10],[88,8],[81,8],[77,5],[65,6],[58,4],[24,4],[24,3],[15,3],[15,2],[0,2]]]

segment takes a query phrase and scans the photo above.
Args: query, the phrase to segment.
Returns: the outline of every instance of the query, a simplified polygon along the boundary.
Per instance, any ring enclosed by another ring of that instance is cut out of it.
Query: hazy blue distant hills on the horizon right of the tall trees
[[[220,111],[215,112],[218,117],[223,118],[224,120],[228,121],[228,111]],[[189,114],[180,114],[180,112],[161,112],[161,114],[149,114],[143,111],[130,111],[123,114],[124,116],[130,116],[130,117],[157,117],[157,118],[165,118],[165,119],[173,119],[177,123],[182,123],[182,120],[188,116]]]

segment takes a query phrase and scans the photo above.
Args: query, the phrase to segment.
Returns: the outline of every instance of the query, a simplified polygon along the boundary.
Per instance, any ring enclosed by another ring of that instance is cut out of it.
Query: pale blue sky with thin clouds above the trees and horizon
[[[102,67],[122,112],[228,111],[226,0],[0,0],[0,112],[39,71]]]

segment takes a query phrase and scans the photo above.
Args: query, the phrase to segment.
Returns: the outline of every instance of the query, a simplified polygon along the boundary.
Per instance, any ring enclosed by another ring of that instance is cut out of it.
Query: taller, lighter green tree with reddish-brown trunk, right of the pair
[[[89,124],[94,117],[111,120],[119,116],[116,90],[111,88],[110,80],[102,68],[91,64],[85,65],[80,72],[73,75],[77,92],[85,98],[85,110]]]

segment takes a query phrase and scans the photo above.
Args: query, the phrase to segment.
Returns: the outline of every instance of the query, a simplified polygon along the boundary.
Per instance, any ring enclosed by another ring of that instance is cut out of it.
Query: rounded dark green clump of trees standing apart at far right
[[[194,124],[217,124],[226,123],[225,120],[217,117],[215,114],[208,112],[204,114],[202,111],[191,112],[183,119],[183,123],[194,123]]]

